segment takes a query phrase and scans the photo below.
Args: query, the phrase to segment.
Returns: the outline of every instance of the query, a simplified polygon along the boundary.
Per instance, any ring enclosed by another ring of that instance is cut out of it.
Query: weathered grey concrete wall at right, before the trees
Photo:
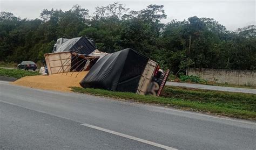
[[[207,81],[237,85],[256,85],[256,71],[226,69],[187,69],[187,75],[197,75]]]

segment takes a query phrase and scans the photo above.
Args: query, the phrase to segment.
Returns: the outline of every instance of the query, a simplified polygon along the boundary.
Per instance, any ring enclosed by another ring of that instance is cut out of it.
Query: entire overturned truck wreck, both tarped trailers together
[[[83,88],[159,96],[169,76],[169,70],[164,73],[157,62],[131,48],[107,54],[84,37],[58,39],[45,60],[49,75],[89,70],[80,81]]]

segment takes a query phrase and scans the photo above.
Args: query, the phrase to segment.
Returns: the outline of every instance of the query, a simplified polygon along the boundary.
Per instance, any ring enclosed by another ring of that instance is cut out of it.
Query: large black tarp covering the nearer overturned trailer
[[[106,55],[92,66],[80,85],[83,88],[136,92],[147,61],[149,58],[131,48]]]

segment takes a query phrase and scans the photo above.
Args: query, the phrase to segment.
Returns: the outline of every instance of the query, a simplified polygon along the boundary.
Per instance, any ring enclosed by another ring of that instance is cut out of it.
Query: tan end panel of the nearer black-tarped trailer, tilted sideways
[[[150,82],[152,80],[152,77],[154,75],[154,70],[157,68],[158,63],[154,62],[153,60],[149,60],[147,62],[147,65],[143,71],[142,76],[139,80],[139,86],[137,89],[137,94],[139,95],[145,95],[147,92],[147,89],[149,88]]]

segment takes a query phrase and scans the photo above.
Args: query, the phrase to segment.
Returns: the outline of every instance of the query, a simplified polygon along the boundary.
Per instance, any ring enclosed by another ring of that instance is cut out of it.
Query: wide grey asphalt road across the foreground
[[[255,149],[256,123],[0,81],[0,149]]]

